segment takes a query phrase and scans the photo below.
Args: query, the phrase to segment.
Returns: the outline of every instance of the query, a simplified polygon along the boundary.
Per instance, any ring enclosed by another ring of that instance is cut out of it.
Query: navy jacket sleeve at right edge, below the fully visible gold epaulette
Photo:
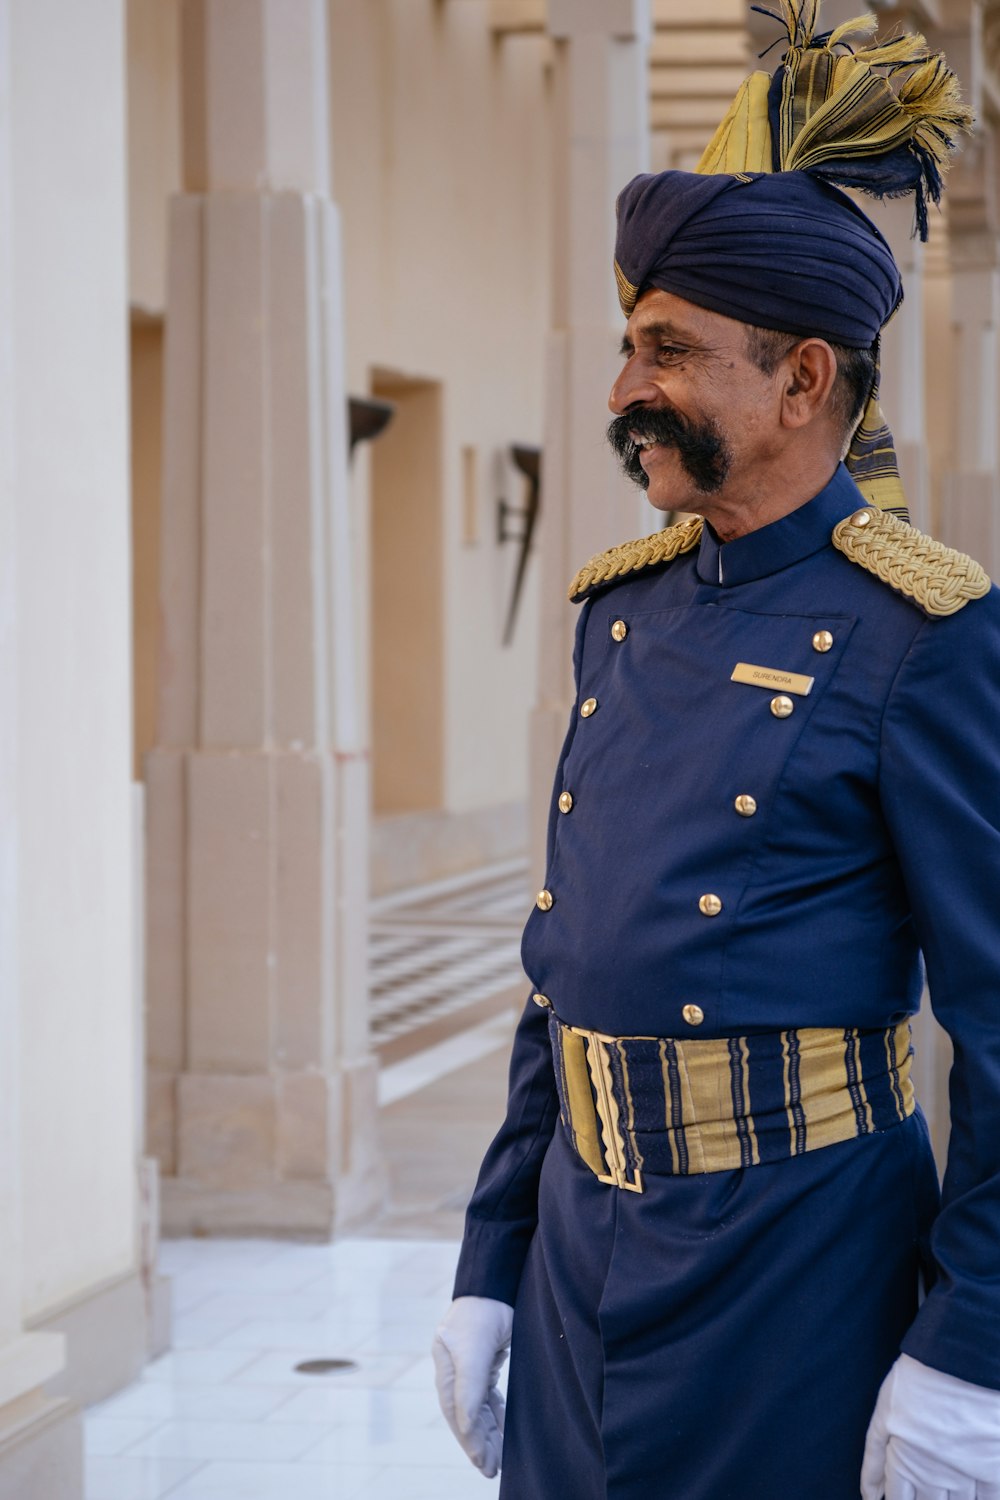
[[[882,807],[952,1038],[937,1280],[907,1354],[1000,1389],[1000,594],[913,638],[883,717]]]

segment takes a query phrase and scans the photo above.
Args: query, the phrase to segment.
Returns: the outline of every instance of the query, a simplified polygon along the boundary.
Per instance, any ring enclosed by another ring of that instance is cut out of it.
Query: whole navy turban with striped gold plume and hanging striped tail
[[[741,322],[876,348],[903,300],[885,237],[840,188],[927,204],[960,130],[958,82],[922,36],[874,42],[876,18],[817,33],[820,0],[753,6],[784,24],[774,78],[753,74],[697,172],[633,178],[618,198],[615,278],[625,316],[648,288]],[[849,40],[852,39],[852,40]],[[847,466],[870,504],[906,516],[879,375]]]

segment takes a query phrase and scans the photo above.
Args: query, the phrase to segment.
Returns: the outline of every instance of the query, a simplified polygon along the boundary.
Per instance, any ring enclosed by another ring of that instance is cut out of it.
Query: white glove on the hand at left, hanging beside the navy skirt
[[[456,1298],[430,1353],[445,1420],[486,1479],[499,1473],[504,1398],[498,1376],[510,1348],[514,1310],[492,1298]]]

